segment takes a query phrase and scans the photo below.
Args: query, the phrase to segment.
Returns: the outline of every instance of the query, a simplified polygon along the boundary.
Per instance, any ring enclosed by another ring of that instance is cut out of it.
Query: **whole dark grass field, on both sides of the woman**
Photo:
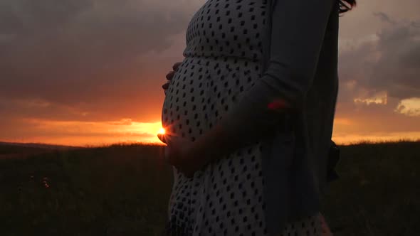
[[[335,235],[420,235],[420,141],[340,150],[322,209]],[[162,146],[30,153],[0,144],[0,235],[159,235],[172,184]]]

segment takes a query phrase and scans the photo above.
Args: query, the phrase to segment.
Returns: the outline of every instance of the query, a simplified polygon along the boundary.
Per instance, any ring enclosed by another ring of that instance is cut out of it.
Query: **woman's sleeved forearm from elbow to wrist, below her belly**
[[[265,99],[264,96],[254,97],[254,100],[243,97],[214,127],[194,142],[194,156],[209,163],[273,134],[287,112],[287,105],[280,100],[265,102]]]

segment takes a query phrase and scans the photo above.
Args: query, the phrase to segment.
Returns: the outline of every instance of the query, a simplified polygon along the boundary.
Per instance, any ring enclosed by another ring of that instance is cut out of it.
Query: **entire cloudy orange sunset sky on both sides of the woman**
[[[0,141],[160,142],[161,86],[204,2],[0,1]],[[419,9],[359,0],[340,18],[333,140],[420,139]]]

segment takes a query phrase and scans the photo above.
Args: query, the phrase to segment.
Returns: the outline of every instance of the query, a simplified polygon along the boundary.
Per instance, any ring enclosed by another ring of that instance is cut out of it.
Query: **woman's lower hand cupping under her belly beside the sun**
[[[167,144],[164,147],[165,159],[184,176],[190,178],[204,166],[204,160],[196,155],[194,142],[171,134],[157,134],[157,137]]]

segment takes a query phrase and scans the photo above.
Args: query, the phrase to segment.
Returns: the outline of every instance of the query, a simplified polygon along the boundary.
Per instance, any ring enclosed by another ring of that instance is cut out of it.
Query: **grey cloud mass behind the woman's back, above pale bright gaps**
[[[387,18],[384,21],[392,20]],[[393,21],[393,20],[392,20]],[[396,23],[340,53],[340,101],[385,91],[399,100],[420,97],[420,28]]]

